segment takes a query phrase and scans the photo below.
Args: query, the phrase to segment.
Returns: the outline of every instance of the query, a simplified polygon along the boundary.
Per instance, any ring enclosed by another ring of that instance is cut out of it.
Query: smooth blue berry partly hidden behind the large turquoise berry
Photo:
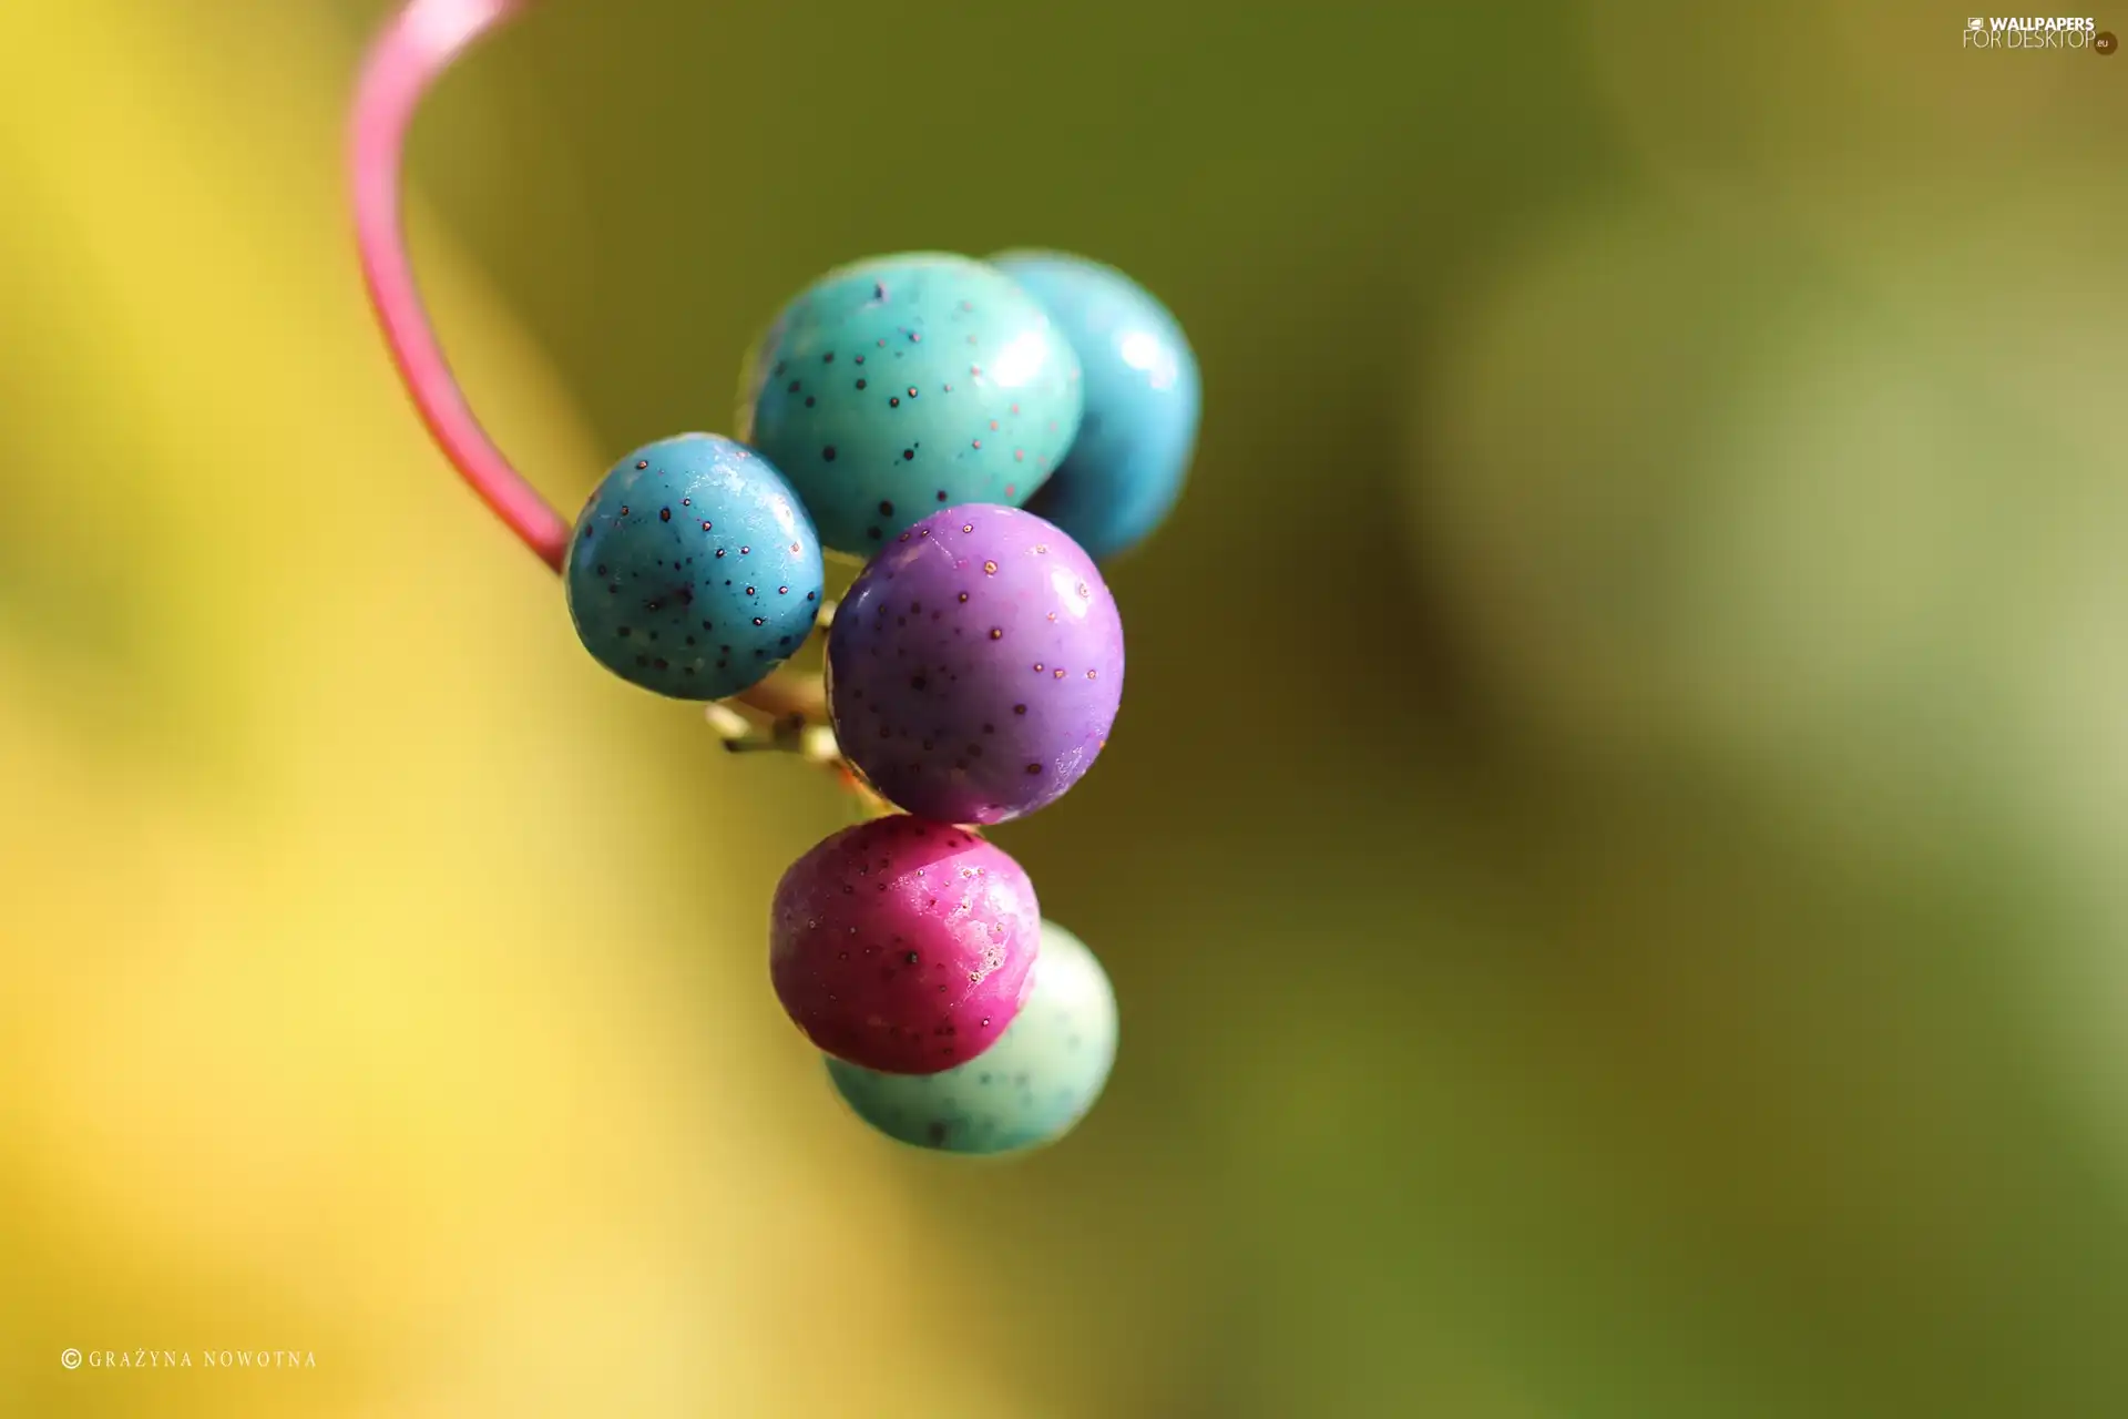
[[[1196,355],[1168,308],[1119,270],[1055,251],[990,260],[1049,311],[1085,379],[1079,436],[1028,511],[1107,562],[1181,498],[1202,398]]]

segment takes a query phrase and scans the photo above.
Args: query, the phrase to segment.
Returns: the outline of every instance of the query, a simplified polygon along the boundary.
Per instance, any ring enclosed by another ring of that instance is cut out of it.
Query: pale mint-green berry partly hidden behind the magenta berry
[[[941,1074],[881,1074],[828,1059],[828,1079],[890,1138],[945,1153],[1055,1142],[1087,1115],[1115,1064],[1115,989],[1094,953],[1043,921],[1034,991],[998,1042]]]

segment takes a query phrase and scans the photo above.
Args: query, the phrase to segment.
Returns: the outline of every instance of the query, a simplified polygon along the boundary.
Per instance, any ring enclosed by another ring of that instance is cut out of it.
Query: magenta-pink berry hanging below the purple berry
[[[821,1051],[936,1074],[1004,1034],[1041,949],[1034,883],[996,845],[921,817],[845,828],[792,864],[768,979]]]

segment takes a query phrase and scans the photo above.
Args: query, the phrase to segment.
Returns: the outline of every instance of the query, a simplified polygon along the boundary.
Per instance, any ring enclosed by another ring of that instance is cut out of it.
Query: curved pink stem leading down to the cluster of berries
[[[547,566],[562,570],[562,557],[568,553],[568,519],[511,468],[466,406],[466,396],[421,306],[400,217],[406,130],[421,98],[460,53],[528,2],[411,0],[377,36],[362,68],[349,160],[362,279],[368,283],[370,304],[377,308],[406,394],[413,396],[436,447],[481,502]]]

